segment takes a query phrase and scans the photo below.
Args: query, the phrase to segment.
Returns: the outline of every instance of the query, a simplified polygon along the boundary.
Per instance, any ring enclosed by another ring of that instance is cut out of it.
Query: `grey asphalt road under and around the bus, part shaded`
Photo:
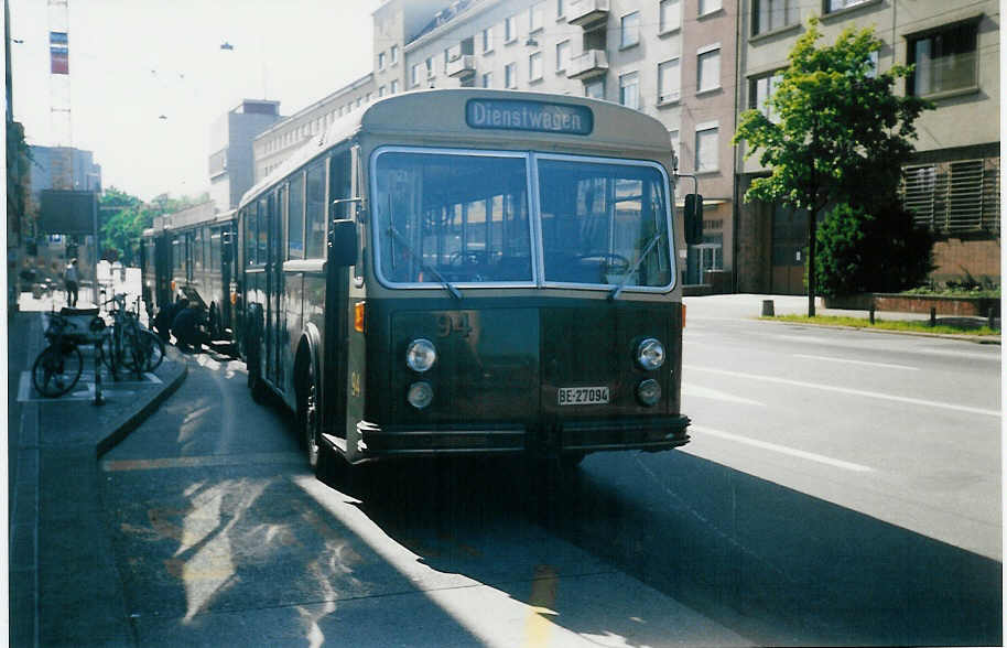
[[[138,644],[1000,642],[999,347],[701,304],[685,345],[683,451],[336,488],[241,363],[195,356],[102,460]]]

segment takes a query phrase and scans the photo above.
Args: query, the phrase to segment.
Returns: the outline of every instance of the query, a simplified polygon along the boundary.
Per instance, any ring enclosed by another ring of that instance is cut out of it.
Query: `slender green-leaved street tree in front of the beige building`
[[[901,65],[879,73],[871,55],[884,46],[874,30],[844,30],[819,46],[819,21],[794,44],[789,66],[768,99],[772,119],[747,110],[734,143],[746,159],[759,153],[770,174],[752,181],[745,201],[781,202],[806,209],[808,314],[814,316],[817,217],[827,205],[847,203],[870,212],[895,199],[901,165],[912,153],[913,122],[929,104],[894,93]]]

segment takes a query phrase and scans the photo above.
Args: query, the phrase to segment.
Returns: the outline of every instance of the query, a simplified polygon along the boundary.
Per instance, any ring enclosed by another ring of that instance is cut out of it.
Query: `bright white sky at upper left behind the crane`
[[[102,187],[145,201],[209,188],[210,127],[242,99],[279,100],[293,115],[370,72],[380,4],[68,0],[72,141],[61,142],[47,2],[9,1],[12,104],[28,142],[93,151]]]

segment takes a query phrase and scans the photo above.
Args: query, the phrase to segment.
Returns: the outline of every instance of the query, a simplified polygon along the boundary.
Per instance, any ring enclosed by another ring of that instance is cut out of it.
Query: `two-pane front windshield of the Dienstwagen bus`
[[[529,177],[538,177],[538,219]],[[392,284],[435,282],[454,292],[454,283],[531,283],[537,238],[545,283],[672,282],[667,179],[653,163],[381,151],[373,212],[378,268]]]

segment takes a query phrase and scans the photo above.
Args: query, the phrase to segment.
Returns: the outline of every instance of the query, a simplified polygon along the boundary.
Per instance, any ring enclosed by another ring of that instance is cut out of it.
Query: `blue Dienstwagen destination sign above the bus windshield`
[[[472,128],[591,134],[594,114],[587,106],[519,99],[469,99],[465,121]]]

